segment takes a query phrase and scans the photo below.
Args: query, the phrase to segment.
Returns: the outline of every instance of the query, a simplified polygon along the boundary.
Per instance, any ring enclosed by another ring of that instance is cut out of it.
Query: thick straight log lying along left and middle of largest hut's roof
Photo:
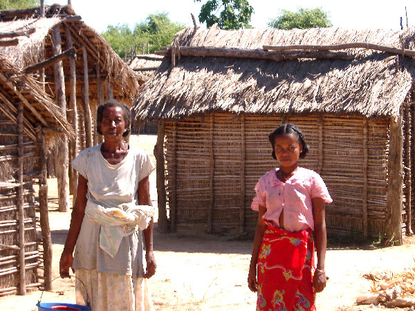
[[[157,51],[154,54],[172,56],[172,50],[178,55],[182,56],[196,56],[196,57],[236,57],[236,58],[252,58],[252,59],[271,59],[276,62],[280,62],[286,59],[298,59],[298,58],[318,58],[318,59],[354,59],[353,55],[348,55],[344,52],[329,52],[329,51],[285,51],[275,52],[266,51],[261,49],[243,49],[243,48],[218,48],[212,46],[176,46],[172,45],[164,50]],[[172,56],[173,61],[173,56]]]

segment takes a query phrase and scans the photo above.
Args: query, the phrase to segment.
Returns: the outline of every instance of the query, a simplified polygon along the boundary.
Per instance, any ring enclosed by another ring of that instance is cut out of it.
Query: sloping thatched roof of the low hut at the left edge
[[[0,54],[0,113],[17,124],[17,106],[24,103],[24,133],[36,141],[35,126],[42,124],[53,131],[46,138],[62,131],[68,138],[72,127],[42,86],[30,75],[23,75],[15,64]]]

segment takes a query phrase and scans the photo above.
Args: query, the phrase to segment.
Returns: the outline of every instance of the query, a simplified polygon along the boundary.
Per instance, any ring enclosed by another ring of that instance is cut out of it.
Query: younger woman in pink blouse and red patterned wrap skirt
[[[255,186],[251,207],[259,213],[248,286],[258,293],[257,310],[315,310],[315,292],[326,286],[324,209],[332,200],[322,178],[298,166],[308,144],[295,124],[282,124],[268,138],[279,169]]]

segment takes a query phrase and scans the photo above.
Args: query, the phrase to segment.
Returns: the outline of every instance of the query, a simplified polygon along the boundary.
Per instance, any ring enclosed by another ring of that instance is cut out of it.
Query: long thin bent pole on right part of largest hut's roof
[[[365,48],[367,50],[378,50],[380,52],[387,52],[397,55],[407,55],[415,57],[415,50],[407,50],[402,48],[392,48],[391,46],[383,46],[381,44],[370,44],[367,42],[351,42],[346,44],[331,44],[326,46],[317,45],[291,45],[291,46],[263,46],[264,50],[314,50],[314,51],[328,51],[328,50],[347,50],[349,48]]]

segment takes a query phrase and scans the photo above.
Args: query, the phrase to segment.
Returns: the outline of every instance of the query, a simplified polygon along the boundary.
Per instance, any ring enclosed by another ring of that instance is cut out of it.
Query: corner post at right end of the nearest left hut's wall
[[[42,126],[36,128],[37,144],[39,146],[39,214],[40,229],[44,250],[44,289],[52,290],[52,238],[50,237],[48,209],[48,170],[46,167],[46,144]]]

